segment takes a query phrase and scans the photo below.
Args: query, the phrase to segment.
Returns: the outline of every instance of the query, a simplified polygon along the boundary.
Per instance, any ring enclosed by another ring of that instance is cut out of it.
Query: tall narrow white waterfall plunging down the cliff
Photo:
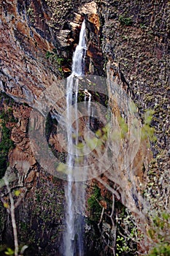
[[[66,195],[66,234],[64,238],[65,256],[83,256],[83,212],[85,206],[85,184],[74,181],[72,173],[76,159],[78,159],[77,145],[79,143],[79,121],[77,109],[77,97],[79,90],[79,78],[84,74],[85,53],[87,47],[85,43],[85,20],[82,23],[80,39],[74,51],[72,59],[72,74],[67,78],[66,83],[66,119],[67,119],[67,165],[68,181],[65,187]],[[89,100],[90,112],[90,100]],[[74,121],[74,124],[72,120]]]

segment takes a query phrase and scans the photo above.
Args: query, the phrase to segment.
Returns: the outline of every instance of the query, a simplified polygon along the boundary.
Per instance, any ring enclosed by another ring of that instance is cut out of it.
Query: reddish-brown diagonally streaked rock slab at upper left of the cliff
[[[32,105],[56,79],[42,64],[45,53],[54,46],[29,26],[16,1],[4,1],[2,8],[7,13],[1,13],[1,91]]]

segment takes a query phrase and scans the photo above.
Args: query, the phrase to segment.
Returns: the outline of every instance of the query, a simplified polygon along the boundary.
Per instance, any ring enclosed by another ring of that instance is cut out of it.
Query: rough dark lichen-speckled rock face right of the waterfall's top
[[[150,168],[161,178],[169,168],[169,3],[105,1],[99,10],[104,17],[104,53],[115,70],[119,67],[123,86],[142,118],[145,110],[155,111],[151,126],[158,139],[151,143],[155,164]],[[152,178],[147,176],[148,181]]]

